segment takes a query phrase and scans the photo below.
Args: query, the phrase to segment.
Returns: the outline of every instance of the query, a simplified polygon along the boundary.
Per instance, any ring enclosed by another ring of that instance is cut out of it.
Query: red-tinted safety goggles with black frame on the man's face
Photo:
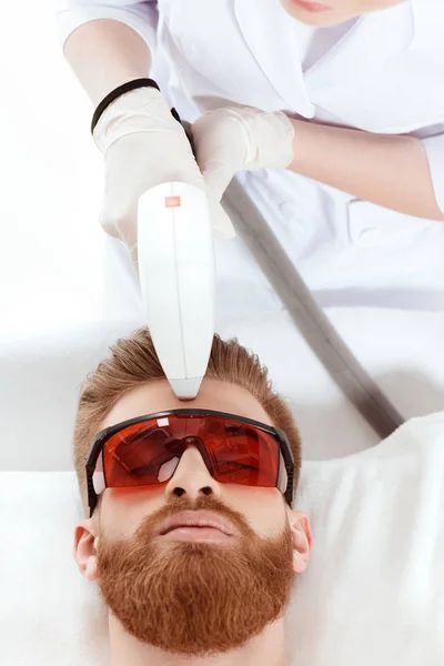
[[[215,481],[276,487],[293,502],[294,460],[282,431],[224,412],[172,410],[118,423],[95,436],[87,462],[91,515],[105,487],[168,482],[190,445]]]

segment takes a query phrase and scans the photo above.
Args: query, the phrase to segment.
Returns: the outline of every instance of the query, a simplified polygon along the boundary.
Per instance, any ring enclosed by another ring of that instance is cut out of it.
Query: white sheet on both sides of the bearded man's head
[[[444,412],[304,465],[312,563],[286,615],[291,666],[444,663]],[[107,614],[72,558],[73,474],[0,473],[2,666],[108,666]]]

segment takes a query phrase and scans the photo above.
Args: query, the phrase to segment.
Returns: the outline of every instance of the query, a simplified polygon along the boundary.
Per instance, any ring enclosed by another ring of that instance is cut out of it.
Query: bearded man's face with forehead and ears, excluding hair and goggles
[[[164,410],[183,408],[167,381],[128,393],[102,427]],[[204,380],[188,408],[209,408],[272,425],[245,390]],[[176,528],[171,517],[192,512],[219,528]],[[142,643],[189,656],[241,646],[281,617],[294,572],[304,569],[310,524],[276,488],[214,481],[198,448],[183,453],[173,476],[160,486],[107,488],[100,512],[77,529],[97,535],[95,551],[79,566],[98,579],[108,607]]]

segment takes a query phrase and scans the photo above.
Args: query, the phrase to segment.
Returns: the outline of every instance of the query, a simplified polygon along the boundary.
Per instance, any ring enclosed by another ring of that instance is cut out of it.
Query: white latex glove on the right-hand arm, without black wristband
[[[282,111],[215,109],[192,132],[198,164],[218,201],[236,171],[285,169],[293,159],[294,128]]]

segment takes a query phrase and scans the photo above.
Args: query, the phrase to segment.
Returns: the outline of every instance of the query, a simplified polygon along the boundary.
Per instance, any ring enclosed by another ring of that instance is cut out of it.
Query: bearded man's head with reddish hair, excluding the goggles
[[[99,431],[184,406],[283,431],[297,483],[297,428],[256,356],[235,340],[215,336],[199,395],[183,403],[164,377],[148,331],[140,330],[120,340],[83,386],[74,431],[83,503],[85,457]],[[221,529],[161,534],[165,521],[190,515],[210,518]],[[307,517],[292,511],[276,487],[219,483],[190,445],[168,481],[107,487],[92,517],[77,526],[74,556],[129,634],[164,650],[203,655],[240,647],[283,615],[311,543]]]

